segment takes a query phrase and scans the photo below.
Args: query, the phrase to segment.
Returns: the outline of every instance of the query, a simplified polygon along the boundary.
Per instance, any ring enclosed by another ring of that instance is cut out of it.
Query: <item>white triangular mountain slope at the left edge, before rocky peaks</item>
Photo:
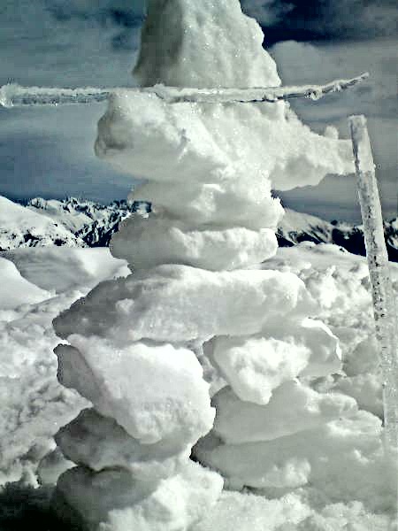
[[[85,243],[62,225],[0,196],[0,250]]]

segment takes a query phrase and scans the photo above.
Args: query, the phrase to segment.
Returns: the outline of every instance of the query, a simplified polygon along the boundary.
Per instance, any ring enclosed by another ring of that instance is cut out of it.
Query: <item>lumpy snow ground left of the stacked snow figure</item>
[[[68,247],[4,252],[0,265],[0,482],[34,484],[52,435],[87,404],[57,382],[51,321],[98,281],[128,269],[108,249]]]

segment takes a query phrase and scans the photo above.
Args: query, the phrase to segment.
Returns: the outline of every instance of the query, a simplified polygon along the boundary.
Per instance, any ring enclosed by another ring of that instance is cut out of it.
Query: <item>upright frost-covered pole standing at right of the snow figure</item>
[[[348,122],[351,129],[359,202],[364,223],[376,335],[381,354],[385,441],[387,450],[394,451],[398,450],[398,333],[394,292],[366,119],[362,115],[351,116]]]

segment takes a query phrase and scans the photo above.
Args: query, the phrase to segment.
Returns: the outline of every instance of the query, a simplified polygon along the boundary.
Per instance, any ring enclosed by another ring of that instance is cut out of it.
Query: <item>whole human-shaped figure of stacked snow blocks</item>
[[[135,76],[142,86],[279,86],[262,41],[238,0],[149,0]],[[223,486],[189,460],[213,423],[195,455],[230,485],[304,485],[313,448],[304,436],[292,459],[295,437],[356,402],[310,387],[340,370],[337,339],[309,319],[317,303],[298,277],[259,264],[277,250],[283,215],[271,190],[352,171],[349,142],[312,133],[283,102],[167,104],[126,89],[99,122],[96,153],[147,180],[134,198],[152,212],[112,238],[134,273],[54,321],[67,342],[58,379],[93,404],[57,434],[78,465],[57,483],[58,506],[90,530],[187,529]]]

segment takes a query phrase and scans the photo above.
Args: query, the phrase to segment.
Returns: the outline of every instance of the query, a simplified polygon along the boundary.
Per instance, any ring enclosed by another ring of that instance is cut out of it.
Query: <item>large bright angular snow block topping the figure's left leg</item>
[[[212,426],[209,386],[188,349],[132,343],[124,348],[96,336],[69,336],[59,345],[58,380],[115,419],[139,443],[164,441],[181,451]]]

